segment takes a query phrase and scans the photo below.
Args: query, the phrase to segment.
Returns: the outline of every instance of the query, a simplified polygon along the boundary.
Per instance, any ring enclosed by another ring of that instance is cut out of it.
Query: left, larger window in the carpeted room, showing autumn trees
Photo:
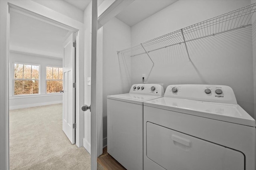
[[[14,63],[14,95],[38,94],[39,65]]]

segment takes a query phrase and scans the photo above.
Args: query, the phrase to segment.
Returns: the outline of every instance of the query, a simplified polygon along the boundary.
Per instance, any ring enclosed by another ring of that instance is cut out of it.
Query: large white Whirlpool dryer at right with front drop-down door
[[[169,85],[144,102],[145,170],[255,170],[255,120],[224,85]]]

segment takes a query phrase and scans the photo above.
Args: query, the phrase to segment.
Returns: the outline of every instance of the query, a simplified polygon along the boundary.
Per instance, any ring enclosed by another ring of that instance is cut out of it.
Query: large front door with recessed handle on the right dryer
[[[150,122],[146,156],[167,170],[244,170],[244,154]]]

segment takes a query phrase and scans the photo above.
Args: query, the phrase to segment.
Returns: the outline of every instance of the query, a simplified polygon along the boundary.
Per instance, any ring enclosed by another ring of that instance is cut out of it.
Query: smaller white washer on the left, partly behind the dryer
[[[108,153],[128,170],[143,169],[143,103],[164,95],[158,84],[135,84],[108,96]]]

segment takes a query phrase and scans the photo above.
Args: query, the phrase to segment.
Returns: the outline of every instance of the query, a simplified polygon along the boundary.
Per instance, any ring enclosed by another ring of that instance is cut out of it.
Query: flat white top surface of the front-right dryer
[[[144,102],[144,106],[256,127],[255,120],[236,104],[161,97]]]

